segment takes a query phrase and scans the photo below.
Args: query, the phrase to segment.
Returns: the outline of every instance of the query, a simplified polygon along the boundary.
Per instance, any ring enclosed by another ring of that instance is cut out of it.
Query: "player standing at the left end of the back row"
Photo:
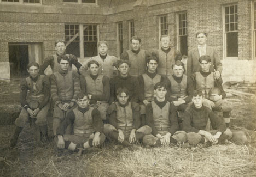
[[[44,59],[44,63],[40,65],[40,74],[44,75],[45,69],[50,65],[52,73],[59,71],[59,63],[57,62],[57,58],[67,57],[68,58],[68,70],[70,71],[72,68],[72,64],[79,68],[82,66],[72,54],[66,54],[66,45],[64,40],[57,40],[55,42],[55,50],[57,51],[56,54],[53,56],[48,56]]]

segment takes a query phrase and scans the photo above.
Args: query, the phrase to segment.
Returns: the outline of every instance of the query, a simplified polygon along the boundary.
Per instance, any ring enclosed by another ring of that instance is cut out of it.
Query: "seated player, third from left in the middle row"
[[[87,64],[89,74],[81,77],[80,84],[83,93],[87,93],[90,99],[90,106],[97,108],[101,113],[101,119],[106,120],[108,101],[110,97],[109,78],[98,74],[100,64],[91,60]]]

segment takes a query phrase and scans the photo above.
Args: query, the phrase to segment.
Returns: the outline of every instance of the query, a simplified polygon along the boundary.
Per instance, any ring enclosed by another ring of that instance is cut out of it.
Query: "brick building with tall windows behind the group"
[[[222,58],[224,81],[256,81],[254,0],[0,0],[0,76],[25,75],[28,62],[55,52],[57,39],[83,63],[97,54],[98,40],[119,57],[133,35],[153,50],[169,34],[187,54],[199,30]]]

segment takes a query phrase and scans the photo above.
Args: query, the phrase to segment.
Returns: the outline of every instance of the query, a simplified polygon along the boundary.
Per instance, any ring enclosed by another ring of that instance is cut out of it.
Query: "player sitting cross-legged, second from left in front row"
[[[125,146],[132,146],[144,135],[149,134],[149,126],[139,128],[139,107],[129,102],[129,90],[127,88],[117,89],[117,102],[112,103],[109,114],[109,124],[104,126],[104,132]],[[107,130],[106,130],[107,129]]]

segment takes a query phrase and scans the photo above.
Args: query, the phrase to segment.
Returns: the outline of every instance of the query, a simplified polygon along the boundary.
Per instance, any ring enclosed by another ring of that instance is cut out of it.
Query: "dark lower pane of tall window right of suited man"
[[[238,32],[226,33],[226,56],[238,57]]]

